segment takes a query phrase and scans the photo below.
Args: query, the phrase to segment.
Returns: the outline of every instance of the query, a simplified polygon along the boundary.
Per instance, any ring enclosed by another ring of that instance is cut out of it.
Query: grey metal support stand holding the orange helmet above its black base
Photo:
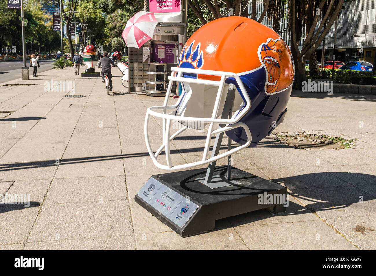
[[[232,117],[232,106],[233,106],[234,100],[235,100],[235,90],[229,89],[229,91],[227,92],[225,104],[223,106],[223,112],[222,112],[221,119],[227,119],[227,118]],[[219,128],[224,127],[225,125],[226,124],[220,124]],[[221,132],[221,133],[217,134],[217,136],[215,136],[215,141],[214,141],[211,157],[218,155],[219,150],[221,148],[223,134],[224,133]],[[228,140],[228,150],[229,151],[231,150],[231,147],[232,147],[231,139],[229,138],[229,140]],[[232,163],[231,161],[232,161],[231,155],[229,155],[227,157],[227,176],[225,176],[225,175],[214,175],[213,176],[213,173],[214,173],[214,170],[215,170],[215,164],[217,163],[217,161],[213,161],[213,162],[209,163],[209,165],[208,165],[208,170],[206,171],[205,178],[197,178],[196,180],[199,181],[200,183],[208,186],[211,189],[230,186],[230,185],[233,185],[233,184],[239,184],[239,182],[231,180],[231,163]]]

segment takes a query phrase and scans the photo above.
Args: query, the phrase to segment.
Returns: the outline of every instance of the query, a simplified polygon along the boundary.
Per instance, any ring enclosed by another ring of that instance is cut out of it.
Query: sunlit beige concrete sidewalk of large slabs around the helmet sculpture
[[[287,212],[230,217],[181,238],[134,201],[151,175],[166,172],[153,165],[143,134],[146,108],[164,98],[118,93],[125,87],[117,68],[113,75],[110,96],[101,78],[72,68],[9,81],[36,85],[0,84],[0,113],[11,112],[0,117],[0,194],[30,195],[28,208],[0,204],[0,249],[376,249],[375,95],[294,91],[277,132],[320,131],[356,146],[298,149],[267,137],[240,151],[233,166],[288,188]],[[51,79],[74,81],[86,97],[62,97],[71,91],[45,88]],[[150,128],[157,147],[161,122]],[[206,133],[185,135],[171,144],[173,162],[202,154]]]

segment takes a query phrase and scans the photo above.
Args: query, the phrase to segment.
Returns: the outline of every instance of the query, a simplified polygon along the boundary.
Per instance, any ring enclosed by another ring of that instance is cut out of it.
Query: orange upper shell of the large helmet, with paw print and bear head
[[[178,67],[239,75],[264,67],[267,73],[265,93],[269,95],[287,89],[294,80],[291,52],[282,38],[267,26],[246,17],[223,17],[202,26],[183,47]]]

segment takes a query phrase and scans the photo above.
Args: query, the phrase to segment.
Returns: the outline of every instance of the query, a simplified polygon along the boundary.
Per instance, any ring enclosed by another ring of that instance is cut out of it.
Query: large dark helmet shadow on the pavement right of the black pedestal
[[[320,187],[317,187],[317,184],[312,185],[312,182],[319,181],[319,179],[323,181],[321,182],[322,185]],[[325,181],[325,179],[329,179],[331,182]],[[336,185],[334,182],[335,179],[338,180],[337,187],[334,187]],[[376,176],[364,173],[307,173],[304,175],[273,179],[273,182],[279,182],[279,184],[281,184],[280,182],[284,182],[286,187],[293,190],[294,198],[297,198],[300,202],[303,202],[303,204],[306,205],[306,208],[290,200],[289,206],[284,213],[271,214],[267,210],[263,209],[231,217],[229,218],[229,221],[232,227],[258,222],[259,220],[272,217],[301,215],[318,211],[341,211],[341,209],[349,207],[352,204],[375,199],[375,196],[373,195],[376,193],[376,186],[374,185],[376,182]],[[305,188],[295,189],[294,186],[296,186],[298,183],[304,183],[305,185],[302,187]],[[359,185],[359,183],[365,184],[365,186],[367,186],[367,190],[364,191],[364,187],[362,187],[363,185]],[[369,185],[367,185],[367,183]],[[347,186],[345,186],[346,184]],[[370,210],[369,204],[365,205],[364,207],[359,204],[354,208],[360,211],[362,208],[364,208],[364,210]],[[367,214],[364,213],[364,215]],[[226,219],[218,220],[216,222],[217,229],[215,230],[218,230],[221,227],[223,228],[224,220]]]

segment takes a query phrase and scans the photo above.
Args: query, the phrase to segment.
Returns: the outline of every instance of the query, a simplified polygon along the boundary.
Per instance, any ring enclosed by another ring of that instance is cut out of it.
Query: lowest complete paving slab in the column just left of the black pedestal
[[[28,242],[133,235],[128,201],[43,205]]]

